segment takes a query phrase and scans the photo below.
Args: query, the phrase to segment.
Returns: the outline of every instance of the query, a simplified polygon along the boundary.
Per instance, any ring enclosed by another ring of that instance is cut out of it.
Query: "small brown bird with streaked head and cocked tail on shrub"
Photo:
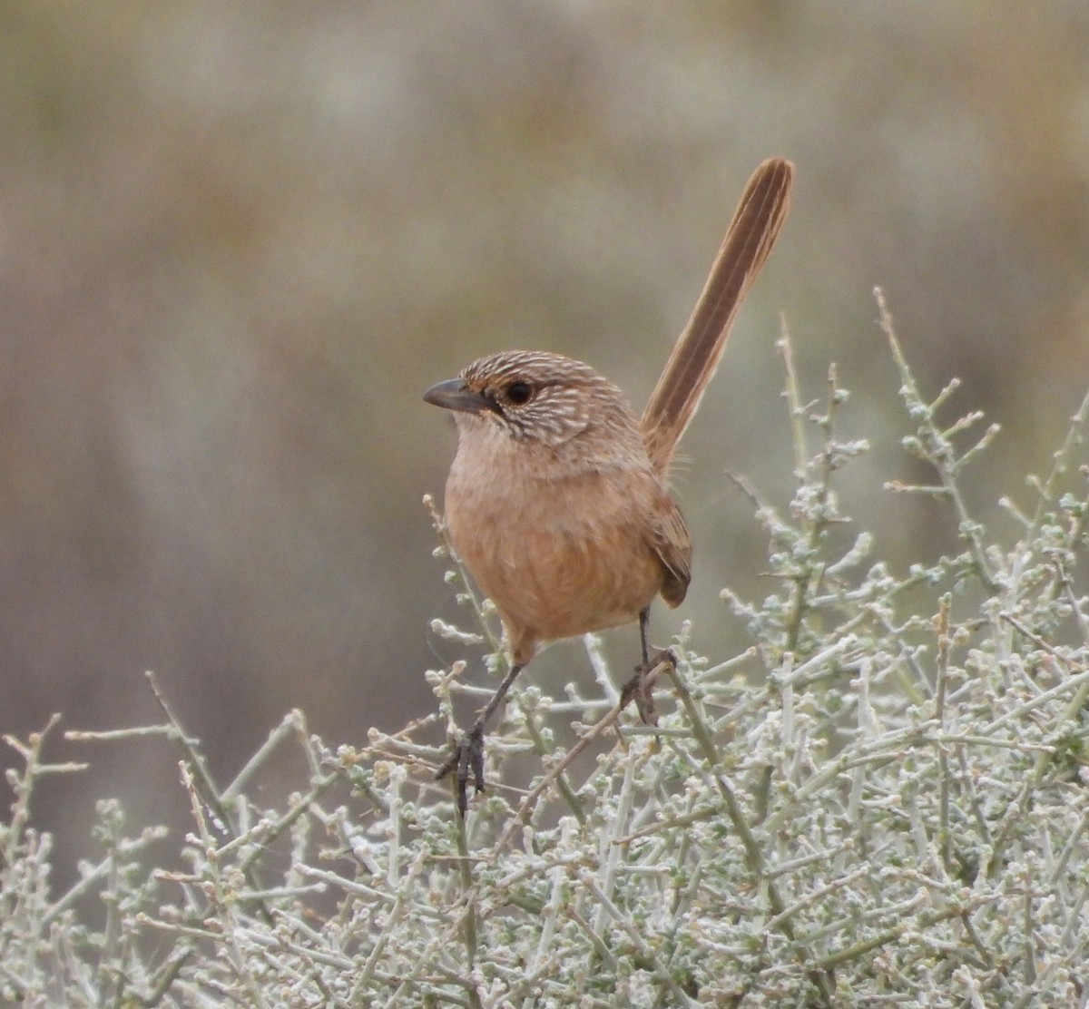
[[[786,218],[793,179],[793,165],[773,158],[749,180],[641,420],[589,365],[541,350],[482,357],[424,394],[454,411],[446,531],[494,602],[512,659],[438,774],[456,774],[463,813],[470,772],[484,790],[488,719],[541,643],[638,619],[646,672],[651,601],[685,598],[692,541],[670,463]]]

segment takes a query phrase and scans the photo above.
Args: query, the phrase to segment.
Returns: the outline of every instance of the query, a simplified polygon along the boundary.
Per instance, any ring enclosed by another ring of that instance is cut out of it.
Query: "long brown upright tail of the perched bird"
[[[769,158],[752,173],[703,293],[650,394],[643,411],[643,436],[651,463],[663,476],[719,366],[737,308],[786,220],[793,183],[794,165],[783,158]]]

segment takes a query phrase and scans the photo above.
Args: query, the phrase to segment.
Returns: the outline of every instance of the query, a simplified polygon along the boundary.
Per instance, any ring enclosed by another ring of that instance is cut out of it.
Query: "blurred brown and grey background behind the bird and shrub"
[[[987,410],[965,481],[1028,501],[1089,385],[1089,5],[988,0],[0,7],[0,730],[160,721],[155,669],[227,780],[292,706],[330,743],[432,710],[478,655],[420,505],[453,453],[423,390],[506,347],[584,358],[640,408],[751,169],[794,209],[683,452],[681,614],[720,657],[766,543],[726,478],[793,485],[774,352],[853,391],[843,475],[894,563],[955,545],[877,325],[931,395]],[[632,631],[609,636],[620,664]],[[588,680],[562,645],[550,689]],[[61,745],[38,822],[183,810],[164,743]],[[0,764],[17,765],[4,748]],[[175,807],[173,798],[178,797]],[[5,799],[4,801],[10,801]],[[74,840],[73,840],[74,838]]]

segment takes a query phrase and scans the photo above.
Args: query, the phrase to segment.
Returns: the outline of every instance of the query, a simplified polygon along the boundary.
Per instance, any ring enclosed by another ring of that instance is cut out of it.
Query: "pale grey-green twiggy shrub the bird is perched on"
[[[41,736],[10,740],[24,766],[0,833],[0,999],[1085,1005],[1089,398],[1031,506],[1007,503],[1018,541],[994,543],[959,492],[981,445],[957,443],[978,418],[940,427],[954,385],[921,398],[881,308],[916,426],[905,444],[935,475],[891,490],[944,501],[963,553],[894,574],[865,533],[832,552],[835,472],[866,446],[835,438],[834,370],[823,406],[803,406],[784,341],[797,493],[779,514],[747,489],[778,590],[723,593],[751,637],[738,655],[709,663],[682,637],[675,670],[658,670],[657,730],[619,710],[591,640],[596,696],[518,691],[489,740],[492,785],[461,822],[432,775],[451,694],[476,697],[462,663],[430,674],[436,715],[366,749],[329,749],[292,713],[225,789],[163,700],[164,724],[145,731],[185,755],[181,868],[148,868],[158,835],[126,839],[106,803],[97,861],[59,897],[28,803],[40,775],[77,768],[44,763]],[[494,648],[454,567],[476,626],[437,630]],[[577,742],[560,747],[572,722]],[[261,809],[247,789],[285,748],[308,771]],[[527,750],[536,777],[517,788],[511,756]],[[95,897],[91,925],[75,909]]]

